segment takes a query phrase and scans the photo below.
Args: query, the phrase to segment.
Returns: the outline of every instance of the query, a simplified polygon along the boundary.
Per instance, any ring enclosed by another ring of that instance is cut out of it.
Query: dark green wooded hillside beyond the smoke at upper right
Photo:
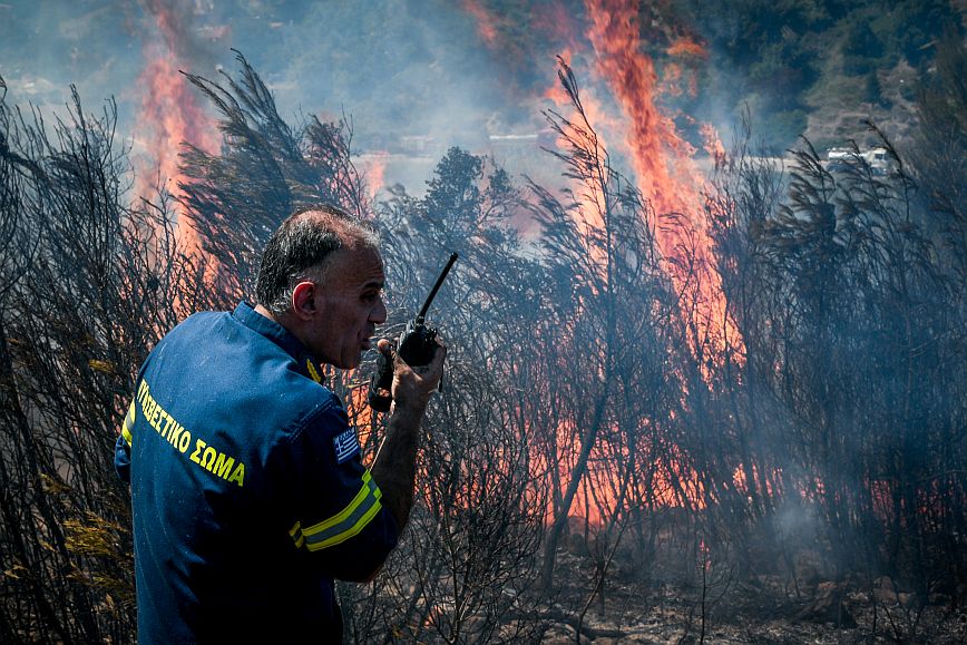
[[[750,106],[776,148],[799,134],[820,148],[842,145],[863,136],[869,117],[889,136],[908,135],[938,38],[963,38],[967,18],[960,0],[684,4],[710,50],[715,105],[733,116]]]

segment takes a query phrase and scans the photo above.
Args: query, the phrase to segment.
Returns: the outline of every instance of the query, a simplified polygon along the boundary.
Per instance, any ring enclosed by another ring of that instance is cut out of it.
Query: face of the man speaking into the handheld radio
[[[341,369],[359,365],[375,326],[387,321],[383,262],[372,248],[340,248],[316,284],[316,316],[307,346],[315,358]]]

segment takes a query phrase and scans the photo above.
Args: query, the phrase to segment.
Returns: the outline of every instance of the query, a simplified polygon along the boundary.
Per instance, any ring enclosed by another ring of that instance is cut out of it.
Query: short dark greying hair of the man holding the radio
[[[292,292],[303,280],[324,280],[332,254],[340,248],[379,248],[379,233],[369,222],[323,204],[296,211],[275,229],[262,254],[255,297],[274,314],[292,306]]]

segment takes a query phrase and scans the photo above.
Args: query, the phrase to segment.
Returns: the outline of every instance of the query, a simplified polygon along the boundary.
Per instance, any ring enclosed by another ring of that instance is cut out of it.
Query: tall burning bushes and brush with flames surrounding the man
[[[776,164],[746,121],[727,149],[709,133],[705,176],[648,101],[636,16],[587,4],[631,125],[606,140],[561,59],[553,186],[453,147],[422,196],[374,198],[349,124],[286,123],[238,55],[235,76],[162,75],[221,137],[179,134],[177,170],[131,199],[113,105],[75,92],[46,127],[0,79],[0,641],[133,639],[110,447],[136,370],[186,313],[252,293],[267,235],[318,202],[382,229],[387,336],[461,257],[431,312],[450,353],[412,526],[340,587],[348,639],[964,638],[963,43],[938,45],[914,137],[869,124],[887,170],[854,148],[831,172],[805,139]],[[329,374],[368,458],[371,369]]]

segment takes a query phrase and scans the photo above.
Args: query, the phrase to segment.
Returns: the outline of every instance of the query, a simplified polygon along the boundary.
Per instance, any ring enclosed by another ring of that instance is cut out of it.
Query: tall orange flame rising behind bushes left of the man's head
[[[186,49],[182,33],[187,30],[180,25],[173,7],[159,0],[146,3],[148,13],[154,18],[157,37],[147,40],[143,48],[145,68],[138,77],[141,105],[137,115],[135,131],[140,133],[143,152],[137,156],[136,198],[148,196],[154,179],[160,177],[167,190],[177,196],[178,184],[187,178],[178,169],[178,148],[182,143],[191,143],[203,150],[217,150],[219,140],[204,110],[199,107],[188,81],[179,74],[182,66],[179,52]],[[179,242],[193,255],[201,255],[201,244],[195,231],[184,219],[184,212],[176,205],[178,215],[177,234]],[[216,267],[208,265],[208,275]]]

